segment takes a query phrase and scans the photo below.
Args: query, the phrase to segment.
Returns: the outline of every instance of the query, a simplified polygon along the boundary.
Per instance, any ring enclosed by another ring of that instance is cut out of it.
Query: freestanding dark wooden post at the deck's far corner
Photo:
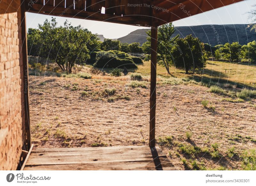
[[[157,55],[157,24],[152,21],[151,27],[151,72],[150,72],[150,123],[149,146],[155,147],[156,127],[156,55]]]

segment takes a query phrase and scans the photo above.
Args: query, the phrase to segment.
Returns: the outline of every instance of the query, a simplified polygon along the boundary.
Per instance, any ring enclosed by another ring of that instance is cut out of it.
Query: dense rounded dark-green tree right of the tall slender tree
[[[206,66],[207,54],[204,44],[192,34],[176,40],[176,44],[172,48],[172,56],[175,66],[184,68],[186,74],[190,69],[193,69],[194,73],[195,69]]]

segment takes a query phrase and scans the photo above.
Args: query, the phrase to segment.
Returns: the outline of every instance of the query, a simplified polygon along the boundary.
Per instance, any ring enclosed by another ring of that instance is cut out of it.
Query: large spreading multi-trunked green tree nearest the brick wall
[[[38,27],[37,31],[31,29],[28,32],[30,38],[28,47],[31,46],[30,49],[35,47],[37,51],[33,52],[33,55],[56,62],[60,69],[67,73],[72,72],[72,67],[76,63],[83,64],[87,58],[90,58],[88,48],[93,48],[94,42],[98,40],[95,34],[80,25],[71,26],[67,20],[64,26],[57,27],[55,18],[51,21],[46,19],[44,24],[38,24]],[[36,38],[33,46],[32,38]]]

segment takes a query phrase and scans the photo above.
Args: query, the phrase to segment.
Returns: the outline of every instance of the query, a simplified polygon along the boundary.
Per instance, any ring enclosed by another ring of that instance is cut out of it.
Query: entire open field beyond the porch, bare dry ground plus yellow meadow
[[[35,146],[146,145],[149,66],[139,65],[140,81],[131,73],[92,74],[91,79],[31,75]],[[236,96],[237,86],[255,87],[255,66],[209,62],[207,73],[196,73],[208,80],[212,70],[213,79],[223,80],[221,93],[181,70],[172,69],[171,76],[157,70],[156,140],[172,164],[180,170],[256,169],[256,99]]]

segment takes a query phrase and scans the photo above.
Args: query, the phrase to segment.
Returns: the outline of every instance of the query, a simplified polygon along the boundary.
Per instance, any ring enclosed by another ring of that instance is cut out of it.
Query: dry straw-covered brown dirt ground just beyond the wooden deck
[[[149,84],[132,88],[127,83],[30,76],[30,123],[36,148],[146,145]],[[106,88],[116,88],[114,101],[99,94]],[[206,169],[241,169],[239,155],[256,148],[256,100],[229,102],[208,90],[197,85],[158,86],[156,139],[171,136],[172,142],[162,148],[181,170],[193,169],[188,166],[192,160]],[[202,100],[209,101],[208,108]],[[211,149],[214,143],[220,158],[180,150],[182,144]],[[231,147],[236,152],[232,158],[227,155]]]

